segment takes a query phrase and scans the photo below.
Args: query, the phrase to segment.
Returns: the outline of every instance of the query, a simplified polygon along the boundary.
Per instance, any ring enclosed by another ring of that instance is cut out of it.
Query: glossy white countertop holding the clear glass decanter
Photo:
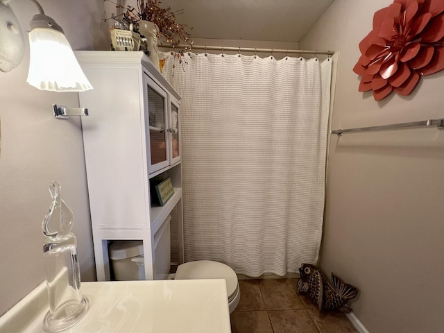
[[[225,280],[83,282],[81,288],[89,311],[64,333],[231,332]],[[44,333],[46,311],[42,283],[0,318],[0,332]]]

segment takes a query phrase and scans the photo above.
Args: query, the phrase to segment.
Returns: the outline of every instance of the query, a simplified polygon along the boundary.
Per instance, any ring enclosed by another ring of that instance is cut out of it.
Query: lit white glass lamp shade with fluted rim
[[[28,33],[30,60],[28,82],[53,92],[92,89],[65,35],[53,28],[33,28]]]

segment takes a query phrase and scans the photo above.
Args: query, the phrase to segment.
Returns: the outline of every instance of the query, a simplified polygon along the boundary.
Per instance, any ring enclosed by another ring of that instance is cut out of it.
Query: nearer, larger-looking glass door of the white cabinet
[[[151,78],[146,78],[146,94],[149,121],[149,172],[169,165],[169,144],[167,137],[167,93]]]

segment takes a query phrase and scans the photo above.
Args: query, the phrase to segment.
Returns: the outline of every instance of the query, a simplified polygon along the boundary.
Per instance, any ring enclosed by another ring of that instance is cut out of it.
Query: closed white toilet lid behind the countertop
[[[176,280],[225,279],[228,299],[237,292],[237,275],[230,266],[212,260],[198,260],[178,266]]]

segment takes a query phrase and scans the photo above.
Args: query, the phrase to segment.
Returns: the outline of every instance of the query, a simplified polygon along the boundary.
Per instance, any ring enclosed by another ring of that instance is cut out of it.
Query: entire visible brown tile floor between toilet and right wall
[[[232,333],[358,332],[341,312],[320,314],[296,293],[296,280],[239,280],[241,300],[230,315]]]

